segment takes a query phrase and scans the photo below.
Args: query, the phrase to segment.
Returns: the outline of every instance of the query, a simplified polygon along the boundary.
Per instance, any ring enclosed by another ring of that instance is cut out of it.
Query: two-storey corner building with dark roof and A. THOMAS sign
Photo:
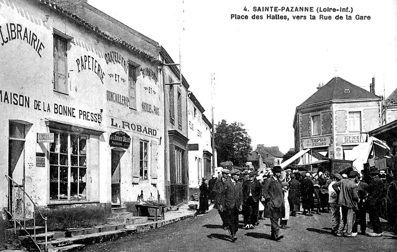
[[[319,86],[296,107],[293,127],[296,152],[313,148],[334,159],[346,159],[367,133],[381,125],[382,98],[340,77]]]

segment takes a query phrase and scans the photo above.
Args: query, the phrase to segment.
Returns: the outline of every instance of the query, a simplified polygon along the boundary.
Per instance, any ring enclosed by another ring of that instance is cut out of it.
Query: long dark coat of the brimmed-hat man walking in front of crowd
[[[279,219],[285,217],[284,192],[281,183],[270,177],[265,181],[265,217]]]

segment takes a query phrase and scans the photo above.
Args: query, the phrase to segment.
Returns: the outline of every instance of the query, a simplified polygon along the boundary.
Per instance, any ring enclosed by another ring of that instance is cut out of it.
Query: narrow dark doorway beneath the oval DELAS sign
[[[112,208],[121,207],[121,173],[120,160],[124,151],[112,150]]]

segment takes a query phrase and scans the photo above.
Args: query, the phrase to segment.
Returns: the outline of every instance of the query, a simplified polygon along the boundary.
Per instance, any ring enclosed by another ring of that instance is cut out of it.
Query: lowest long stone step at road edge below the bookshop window
[[[48,248],[53,249],[53,248],[60,248],[60,247],[76,245],[76,244],[87,245],[87,244],[101,243],[112,239],[118,239],[122,236],[126,236],[134,232],[135,230],[123,229],[123,230],[115,230],[115,231],[94,233],[88,235],[80,235],[80,236],[68,237],[68,238],[65,237],[65,238],[49,241]],[[38,245],[42,250],[44,250],[45,242],[38,243]]]

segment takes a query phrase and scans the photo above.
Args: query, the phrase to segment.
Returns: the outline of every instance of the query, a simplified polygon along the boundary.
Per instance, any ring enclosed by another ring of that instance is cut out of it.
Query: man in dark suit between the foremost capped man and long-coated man
[[[259,199],[262,194],[262,186],[255,179],[256,173],[250,172],[249,179],[244,182],[243,199],[244,199],[244,225],[245,229],[254,229],[258,221]]]

